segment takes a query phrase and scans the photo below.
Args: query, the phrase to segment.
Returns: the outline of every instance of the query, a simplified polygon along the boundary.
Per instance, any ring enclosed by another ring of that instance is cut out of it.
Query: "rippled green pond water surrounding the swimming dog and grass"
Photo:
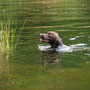
[[[0,90],[90,90],[89,0],[0,0],[17,21],[13,55],[0,56]],[[40,33],[57,32],[72,52],[41,51]]]

